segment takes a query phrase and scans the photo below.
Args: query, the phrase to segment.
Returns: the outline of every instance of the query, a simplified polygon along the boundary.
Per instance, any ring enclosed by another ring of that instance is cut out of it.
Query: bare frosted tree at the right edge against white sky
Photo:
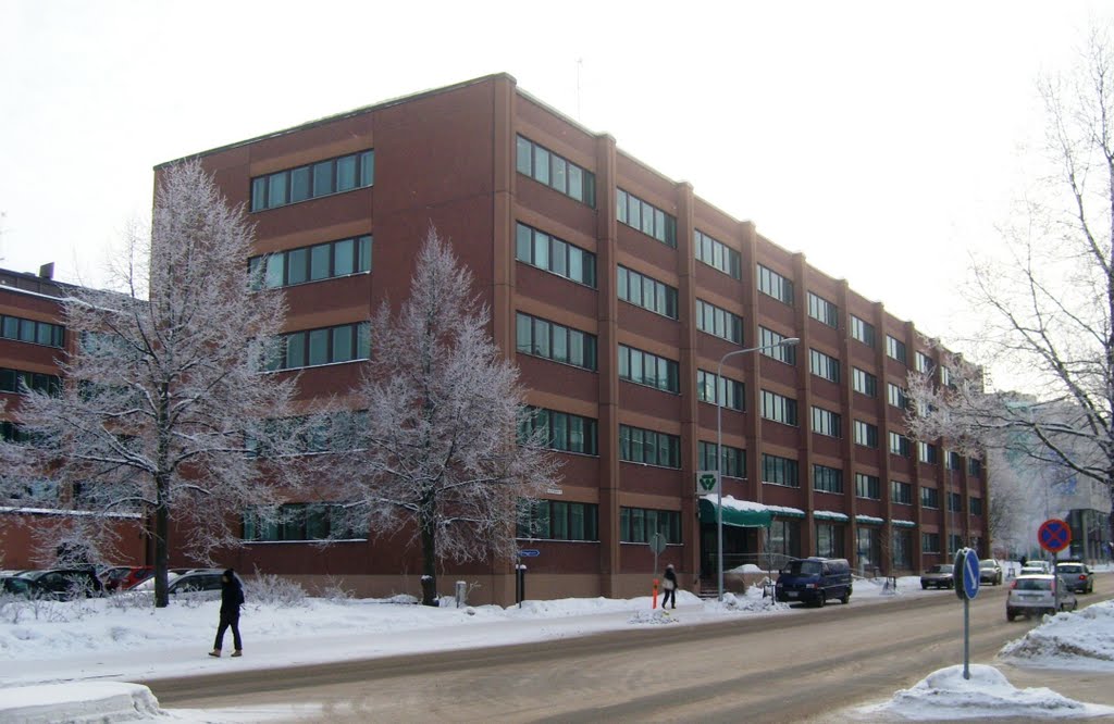
[[[1039,84],[1051,169],[1015,223],[1006,256],[976,261],[971,306],[986,315],[980,361],[1009,365],[1036,397],[984,389],[961,360],[911,375],[919,439],[1023,451],[1114,491],[1114,46],[1094,30],[1065,76]]]

